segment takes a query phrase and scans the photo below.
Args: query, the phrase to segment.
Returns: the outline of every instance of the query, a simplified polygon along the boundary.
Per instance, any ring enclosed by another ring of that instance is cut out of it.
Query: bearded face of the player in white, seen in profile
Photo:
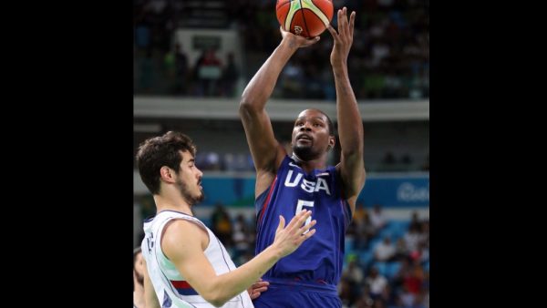
[[[195,160],[189,151],[182,153],[181,169],[177,179],[177,186],[181,191],[182,198],[189,204],[196,204],[203,200],[203,188],[201,187],[201,176],[203,172],[195,165]]]

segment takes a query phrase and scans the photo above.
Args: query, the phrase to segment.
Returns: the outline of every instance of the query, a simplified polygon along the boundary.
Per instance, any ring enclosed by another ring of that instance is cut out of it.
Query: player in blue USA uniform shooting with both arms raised
[[[356,13],[347,17],[346,7],[337,11],[337,31],[330,63],[335,75],[336,112],[341,160],[326,166],[335,147],[334,126],[321,110],[306,109],[294,121],[293,153],[287,153],[275,138],[265,110],[277,78],[289,58],[300,47],[315,44],[319,37],[295,36],[280,29],[282,40],[243,91],[240,116],[256,169],[255,252],[263,252],[274,241],[279,215],[292,218],[311,210],[315,236],[293,254],[277,262],[263,275],[268,291],[254,300],[263,307],[341,307],[336,292],[344,260],[344,241],[365,185],[363,124],[349,82],[347,56],[353,43]]]

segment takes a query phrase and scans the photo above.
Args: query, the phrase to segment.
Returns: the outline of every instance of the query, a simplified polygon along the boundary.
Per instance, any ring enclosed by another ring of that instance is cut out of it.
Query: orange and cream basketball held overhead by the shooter
[[[332,0],[277,0],[275,13],[285,31],[296,36],[322,34],[333,19]]]

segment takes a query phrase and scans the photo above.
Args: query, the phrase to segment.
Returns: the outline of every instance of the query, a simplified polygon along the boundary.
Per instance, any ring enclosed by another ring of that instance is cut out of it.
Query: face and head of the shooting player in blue
[[[320,111],[315,109],[304,110],[294,121],[293,151],[299,158],[304,160],[317,159],[325,153],[331,142],[330,140],[328,119]]]

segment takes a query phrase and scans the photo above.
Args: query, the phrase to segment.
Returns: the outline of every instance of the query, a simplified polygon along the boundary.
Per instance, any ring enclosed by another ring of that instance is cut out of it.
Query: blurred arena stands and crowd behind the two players
[[[241,264],[253,256],[254,172],[237,110],[243,87],[281,39],[275,1],[133,5],[134,153],[144,139],[170,129],[194,139],[207,196],[195,214]],[[346,307],[428,307],[428,1],[334,5],[357,14],[348,67],[365,128],[367,169],[346,234],[339,293]],[[331,48],[325,31],[284,68],[267,105],[277,139],[290,140],[304,108],[322,109],[336,120]],[[142,219],[154,211],[136,170],[133,187],[137,246]],[[396,253],[377,259],[374,252],[385,239]]]

